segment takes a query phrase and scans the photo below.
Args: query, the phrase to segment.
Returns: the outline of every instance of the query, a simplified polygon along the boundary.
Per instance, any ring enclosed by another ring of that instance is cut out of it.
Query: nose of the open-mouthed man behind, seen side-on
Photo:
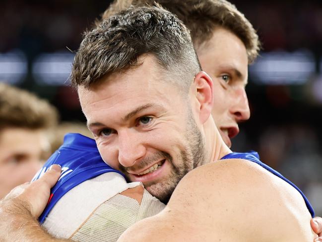
[[[244,88],[236,90],[236,98],[234,104],[230,108],[237,122],[248,120],[251,116],[250,107],[248,104],[247,94]]]

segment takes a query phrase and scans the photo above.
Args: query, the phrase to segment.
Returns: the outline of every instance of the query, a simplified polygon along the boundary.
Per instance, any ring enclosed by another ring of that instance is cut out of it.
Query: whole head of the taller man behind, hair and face
[[[190,29],[201,68],[214,82],[212,116],[224,140],[239,133],[238,123],[250,118],[245,92],[248,64],[258,56],[256,30],[226,0],[115,0],[103,13],[106,19],[129,5],[160,3]],[[97,21],[96,24],[99,24]]]

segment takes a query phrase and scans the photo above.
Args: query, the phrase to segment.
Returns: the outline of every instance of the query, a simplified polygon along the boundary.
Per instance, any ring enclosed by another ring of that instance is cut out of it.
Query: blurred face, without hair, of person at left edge
[[[4,128],[0,135],[0,198],[30,181],[41,167],[46,138],[42,131]]]

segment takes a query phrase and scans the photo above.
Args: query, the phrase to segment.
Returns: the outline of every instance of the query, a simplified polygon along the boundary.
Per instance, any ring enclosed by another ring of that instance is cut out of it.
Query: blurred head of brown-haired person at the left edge
[[[51,155],[46,131],[57,122],[58,112],[46,100],[0,83],[0,199],[30,181]]]

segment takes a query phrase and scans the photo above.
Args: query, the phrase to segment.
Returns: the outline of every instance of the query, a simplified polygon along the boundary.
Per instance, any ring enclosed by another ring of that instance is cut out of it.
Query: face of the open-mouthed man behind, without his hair
[[[245,91],[248,58],[243,42],[232,32],[218,27],[207,42],[196,47],[202,67],[213,80],[212,116],[228,147],[239,133],[238,122],[250,118]]]

